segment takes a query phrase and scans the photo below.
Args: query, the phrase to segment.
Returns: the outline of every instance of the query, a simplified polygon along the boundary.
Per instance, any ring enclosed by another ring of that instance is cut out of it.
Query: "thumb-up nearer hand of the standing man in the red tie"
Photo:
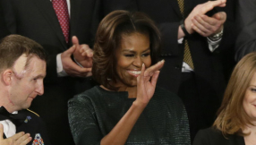
[[[70,47],[69,49],[67,49],[61,54],[64,71],[65,73],[73,77],[89,77],[91,76],[91,67],[81,68],[81,66],[73,62],[71,58],[71,56],[76,51],[76,49],[79,49],[81,47],[81,45],[79,45],[78,39],[77,41],[74,40],[74,42],[75,43],[73,44],[73,47]]]

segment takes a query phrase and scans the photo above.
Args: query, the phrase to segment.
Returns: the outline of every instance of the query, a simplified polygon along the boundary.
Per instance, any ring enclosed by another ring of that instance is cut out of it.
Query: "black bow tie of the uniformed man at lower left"
[[[24,123],[26,115],[24,114],[10,114],[5,107],[0,107],[0,121],[9,119],[16,126],[20,126]]]

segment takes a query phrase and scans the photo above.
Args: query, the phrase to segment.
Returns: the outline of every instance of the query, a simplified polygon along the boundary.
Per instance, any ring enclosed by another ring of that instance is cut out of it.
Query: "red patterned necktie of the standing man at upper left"
[[[55,13],[60,23],[61,29],[63,30],[64,38],[66,43],[69,40],[69,14],[67,9],[66,0],[52,0]]]

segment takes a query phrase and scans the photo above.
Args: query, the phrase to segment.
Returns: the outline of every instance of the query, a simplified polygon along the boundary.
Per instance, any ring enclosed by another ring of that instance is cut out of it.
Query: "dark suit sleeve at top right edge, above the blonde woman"
[[[256,1],[238,0],[237,30],[240,31],[235,43],[235,60],[256,51]]]

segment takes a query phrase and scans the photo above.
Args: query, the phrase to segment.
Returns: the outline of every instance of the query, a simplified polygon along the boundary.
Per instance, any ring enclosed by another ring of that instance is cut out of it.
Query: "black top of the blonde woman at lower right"
[[[208,128],[201,130],[197,133],[193,145],[245,145],[243,136],[226,135],[223,136],[222,132]]]

